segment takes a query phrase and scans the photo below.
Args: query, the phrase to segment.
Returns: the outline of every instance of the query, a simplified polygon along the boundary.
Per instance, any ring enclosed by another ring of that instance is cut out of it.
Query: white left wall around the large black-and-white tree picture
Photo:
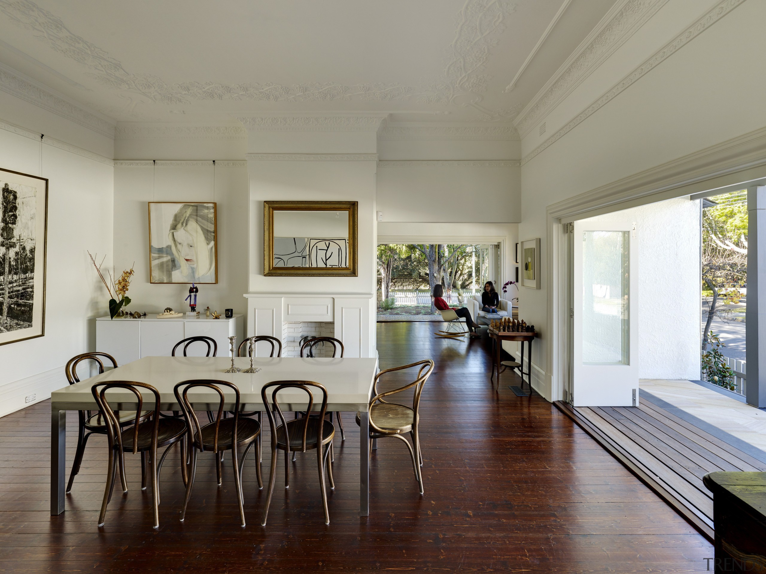
[[[30,105],[23,104],[19,108]],[[0,120],[17,120],[11,105],[6,101]],[[59,120],[55,132],[66,137],[66,120]],[[40,123],[35,127],[41,129]],[[73,126],[72,132],[81,129]],[[27,406],[25,396],[45,400],[66,385],[64,364],[93,350],[93,318],[106,313],[108,298],[87,250],[106,255],[105,265],[111,264],[113,167],[106,158],[96,161],[82,153],[87,154],[41,144],[40,133],[0,129],[2,168],[49,179],[45,334],[0,347],[0,416]]]

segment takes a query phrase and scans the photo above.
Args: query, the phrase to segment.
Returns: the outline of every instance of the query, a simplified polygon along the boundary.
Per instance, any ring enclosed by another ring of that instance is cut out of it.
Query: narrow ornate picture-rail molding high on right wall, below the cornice
[[[614,99],[624,90],[627,90],[627,88],[632,86],[633,83],[636,83],[637,80],[640,80],[640,78],[642,78],[645,74],[653,70],[659,64],[662,64],[663,61],[665,61],[668,57],[675,54],[676,51],[679,51],[679,49],[688,44],[689,41],[692,41],[694,38],[699,36],[699,34],[702,34],[703,31],[710,28],[712,24],[715,24],[715,22],[719,21],[743,2],[745,2],[745,0],[722,0],[717,5],[713,6],[713,8],[711,8],[704,15],[698,18],[692,25],[690,25],[689,28],[686,28],[686,30],[678,34],[676,38],[673,38],[673,40],[669,41],[667,44],[661,47],[660,50],[656,51],[654,54],[644,60],[643,63],[636,67],[635,70],[614,84],[610,90],[607,90],[606,93],[594,101],[594,103],[591,103],[590,106],[575,116],[574,119],[571,119],[564,127],[551,135],[551,137],[546,139],[545,142],[542,142],[542,144],[538,145],[535,149],[532,150],[532,152],[529,152],[529,154],[525,155],[524,158],[522,158],[522,165],[525,165],[528,161],[532,161],[533,158],[535,158],[541,152],[545,151],[545,149],[549,148],[555,142],[558,142],[559,139],[571,132],[572,129],[575,129],[577,126],[579,126],[582,122],[585,121],[585,119],[588,119],[588,117],[592,116],[607,103],[611,102],[612,99]]]

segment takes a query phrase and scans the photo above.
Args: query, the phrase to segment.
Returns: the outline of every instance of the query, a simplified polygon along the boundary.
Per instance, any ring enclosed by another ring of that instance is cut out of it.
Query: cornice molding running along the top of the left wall
[[[0,90],[114,139],[114,124],[70,102],[63,94],[35,82],[11,67],[0,64]]]

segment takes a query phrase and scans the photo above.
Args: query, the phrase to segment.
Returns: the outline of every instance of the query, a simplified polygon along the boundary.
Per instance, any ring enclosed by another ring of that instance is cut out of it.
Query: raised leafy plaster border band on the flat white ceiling
[[[211,99],[233,99],[262,102],[331,102],[357,99],[366,102],[410,100],[434,105],[453,104],[471,107],[480,119],[492,121],[512,119],[518,106],[490,110],[481,105],[489,74],[485,73],[490,49],[506,29],[505,19],[516,10],[509,0],[466,0],[457,15],[455,37],[448,51],[450,61],[444,75],[420,86],[399,83],[340,84],[276,83],[221,84],[189,81],[168,84],[149,73],[130,73],[123,64],[95,44],[77,36],[64,21],[31,0],[0,0],[0,11],[21,28],[25,28],[51,50],[90,70],[88,74],[103,86],[118,90],[133,110],[136,103],[187,104]]]

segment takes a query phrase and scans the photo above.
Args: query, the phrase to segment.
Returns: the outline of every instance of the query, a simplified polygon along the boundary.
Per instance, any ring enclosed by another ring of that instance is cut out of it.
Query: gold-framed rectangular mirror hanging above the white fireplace
[[[264,275],[356,277],[356,201],[264,201]]]

